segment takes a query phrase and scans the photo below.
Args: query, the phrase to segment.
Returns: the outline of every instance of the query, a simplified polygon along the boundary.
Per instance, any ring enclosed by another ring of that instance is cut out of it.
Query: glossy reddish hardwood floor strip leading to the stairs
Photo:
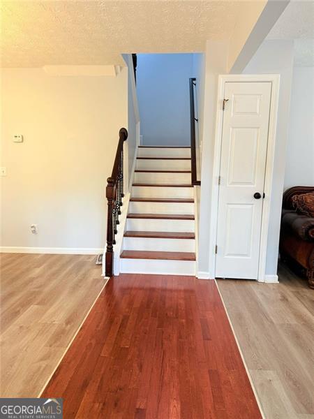
[[[110,279],[42,397],[65,419],[261,418],[214,281]]]

